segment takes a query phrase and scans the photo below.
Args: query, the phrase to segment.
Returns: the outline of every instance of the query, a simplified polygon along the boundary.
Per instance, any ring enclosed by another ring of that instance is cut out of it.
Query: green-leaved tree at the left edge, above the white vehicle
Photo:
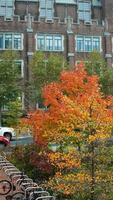
[[[17,55],[12,51],[0,54],[0,126],[2,108],[17,99],[19,94],[19,73],[15,64]]]

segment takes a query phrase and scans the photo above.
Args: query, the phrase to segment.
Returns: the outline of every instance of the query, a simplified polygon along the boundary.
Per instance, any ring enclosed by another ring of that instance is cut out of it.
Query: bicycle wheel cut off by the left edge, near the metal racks
[[[0,181],[0,195],[6,195],[8,194],[12,189],[12,185],[7,180],[1,180]]]

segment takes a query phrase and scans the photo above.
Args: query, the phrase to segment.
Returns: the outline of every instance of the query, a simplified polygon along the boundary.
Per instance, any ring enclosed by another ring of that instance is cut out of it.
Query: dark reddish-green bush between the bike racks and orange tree
[[[34,144],[16,146],[8,159],[35,182],[42,183],[54,175],[47,153]]]

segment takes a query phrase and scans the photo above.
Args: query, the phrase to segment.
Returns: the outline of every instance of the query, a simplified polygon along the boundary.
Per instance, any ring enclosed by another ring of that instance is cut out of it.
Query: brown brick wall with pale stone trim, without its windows
[[[58,1],[57,1],[58,2]],[[60,2],[60,1],[59,1]],[[90,2],[90,0],[89,0]],[[69,60],[72,66],[78,60],[86,60],[90,52],[78,52],[75,38],[80,36],[99,36],[101,38],[100,54],[109,66],[113,63],[113,1],[102,0],[101,6],[91,6],[91,20],[78,19],[78,4],[61,4],[54,2],[53,18],[40,17],[40,2],[15,1],[14,15],[0,17],[0,33],[22,33],[23,49],[18,50],[24,63],[23,83],[29,79],[29,62],[36,51],[37,34],[60,34],[64,37],[64,50],[57,51]],[[84,42],[85,43],[85,42]],[[2,50],[1,50],[2,52]]]

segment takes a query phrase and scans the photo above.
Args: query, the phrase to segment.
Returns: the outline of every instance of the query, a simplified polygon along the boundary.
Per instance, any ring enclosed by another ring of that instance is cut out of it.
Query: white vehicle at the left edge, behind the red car
[[[10,127],[0,127],[0,136],[4,136],[11,141],[16,137],[16,133],[13,128]]]

